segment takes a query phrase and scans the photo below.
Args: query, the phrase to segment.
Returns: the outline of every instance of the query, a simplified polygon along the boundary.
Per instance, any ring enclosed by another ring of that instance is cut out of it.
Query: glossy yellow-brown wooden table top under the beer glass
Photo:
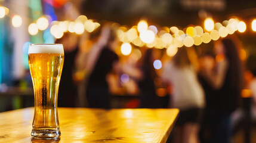
[[[31,139],[34,108],[0,113],[0,142]],[[47,142],[166,142],[178,109],[58,108],[61,138]]]

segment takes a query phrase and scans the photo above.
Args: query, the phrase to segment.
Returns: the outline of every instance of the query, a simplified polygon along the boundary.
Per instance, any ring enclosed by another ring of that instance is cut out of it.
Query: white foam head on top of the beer
[[[31,44],[29,46],[29,54],[37,53],[53,53],[64,54],[62,44]]]

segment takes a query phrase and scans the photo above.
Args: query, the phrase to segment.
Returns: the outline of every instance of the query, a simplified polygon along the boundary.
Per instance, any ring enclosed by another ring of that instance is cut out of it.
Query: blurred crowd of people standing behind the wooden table
[[[246,68],[239,47],[229,38],[214,42],[211,52],[185,46],[174,57],[162,49],[139,48],[142,57],[120,56],[117,27],[106,23],[98,32],[78,37],[67,33],[58,106],[112,108],[112,95],[138,95],[128,108],[179,108],[174,142],[230,142],[232,113],[239,107],[241,91],[255,92],[255,71],[244,80]],[[163,67],[156,69],[155,60]],[[247,72],[247,71],[246,71]],[[122,81],[126,75],[129,86]],[[255,93],[253,93],[255,95]],[[168,116],[168,115],[166,115]]]

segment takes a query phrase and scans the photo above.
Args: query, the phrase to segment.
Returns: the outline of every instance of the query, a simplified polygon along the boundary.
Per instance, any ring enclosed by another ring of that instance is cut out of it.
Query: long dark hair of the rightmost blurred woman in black
[[[224,54],[229,61],[230,84],[233,88],[242,89],[243,86],[243,67],[239,58],[238,47],[231,39],[223,39]]]

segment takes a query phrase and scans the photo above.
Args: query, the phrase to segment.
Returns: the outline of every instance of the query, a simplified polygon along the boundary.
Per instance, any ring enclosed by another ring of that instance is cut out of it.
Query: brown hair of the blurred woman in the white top
[[[186,47],[178,48],[178,52],[172,58],[174,65],[178,68],[183,68],[191,64],[189,54]]]

